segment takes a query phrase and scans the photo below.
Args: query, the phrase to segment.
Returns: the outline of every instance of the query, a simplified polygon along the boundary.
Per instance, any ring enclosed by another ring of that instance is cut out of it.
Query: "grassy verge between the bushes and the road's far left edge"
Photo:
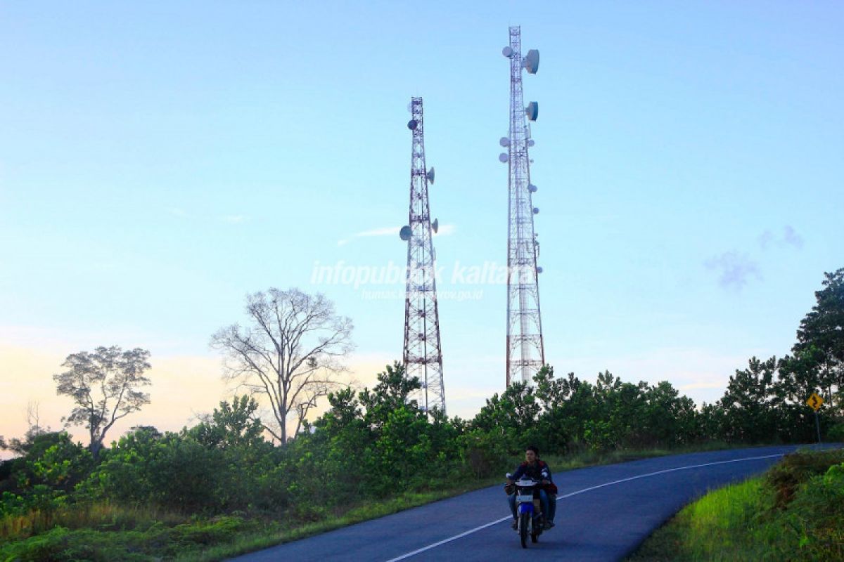
[[[723,443],[709,443],[674,450],[582,452],[544,459],[557,472],[723,448],[728,447]],[[0,518],[0,562],[47,559],[211,562],[501,484],[504,473],[519,460],[512,459],[506,468],[501,469],[500,476],[474,479],[448,489],[419,490],[388,500],[346,506],[310,522],[302,522],[295,517],[277,521],[253,514],[203,518],[109,504],[68,506],[49,514],[49,517],[37,512],[29,517],[4,517]],[[504,509],[503,494],[501,504]]]

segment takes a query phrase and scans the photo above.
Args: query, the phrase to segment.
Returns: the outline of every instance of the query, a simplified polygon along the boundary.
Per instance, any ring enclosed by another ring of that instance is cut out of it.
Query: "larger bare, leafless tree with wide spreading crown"
[[[322,294],[272,287],[246,297],[246,316],[246,327],[220,329],[211,346],[225,357],[225,378],[269,400],[273,417],[264,428],[286,443],[288,421],[295,421],[295,435],[317,399],[337,388],[352,350],[352,321]]]

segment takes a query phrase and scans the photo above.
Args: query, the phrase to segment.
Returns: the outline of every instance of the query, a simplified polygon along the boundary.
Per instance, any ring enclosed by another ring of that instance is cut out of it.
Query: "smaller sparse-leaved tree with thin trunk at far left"
[[[80,351],[62,363],[68,370],[53,375],[56,393],[65,394],[77,404],[62,418],[65,426],[86,426],[89,449],[98,458],[106,432],[117,420],[149,404],[149,394],[138,387],[149,385],[143,372],[150,368],[149,351],[135,348],[122,351],[116,345],[98,347],[93,353]]]

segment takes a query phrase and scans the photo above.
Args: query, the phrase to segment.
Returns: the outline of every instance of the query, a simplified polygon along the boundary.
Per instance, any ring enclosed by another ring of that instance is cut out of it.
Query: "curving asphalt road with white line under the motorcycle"
[[[527,549],[510,528],[502,487],[495,486],[235,560],[463,562],[536,560],[530,557],[537,555],[618,560],[691,500],[763,472],[795,448],[697,452],[557,473],[557,525]]]

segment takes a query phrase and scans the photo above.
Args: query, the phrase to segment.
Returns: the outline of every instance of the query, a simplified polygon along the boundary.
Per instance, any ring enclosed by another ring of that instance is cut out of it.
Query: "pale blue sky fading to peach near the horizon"
[[[701,404],[786,354],[844,266],[841,3],[3,0],[0,435],[30,403],[62,426],[52,375],[99,345],[152,354],[152,403],[109,438],[190,425],[231,395],[210,336],[270,286],[352,318],[371,385],[402,354],[403,284],[318,271],[403,267],[411,96],[446,404],[474,415],[505,384],[506,286],[467,274],[506,264],[517,24],[541,53],[546,360]]]

